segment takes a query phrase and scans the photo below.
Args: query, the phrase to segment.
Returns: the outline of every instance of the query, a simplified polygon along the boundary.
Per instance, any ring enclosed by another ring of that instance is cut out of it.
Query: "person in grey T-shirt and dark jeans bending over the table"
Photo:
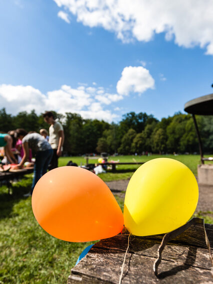
[[[52,148],[46,139],[38,133],[27,133],[24,129],[17,129],[17,137],[22,141],[23,157],[14,169],[22,168],[24,162],[28,159],[29,148],[35,151],[34,176],[32,180],[31,192],[24,194],[29,196],[32,194],[34,186],[38,179],[47,171],[48,164],[52,158]]]

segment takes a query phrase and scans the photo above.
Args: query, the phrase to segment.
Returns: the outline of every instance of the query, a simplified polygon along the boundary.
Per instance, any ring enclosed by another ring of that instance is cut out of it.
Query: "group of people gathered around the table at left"
[[[38,179],[47,171],[58,165],[58,157],[61,156],[64,141],[63,127],[60,122],[55,121],[51,111],[43,113],[44,121],[50,124],[49,135],[47,130],[40,129],[40,133],[27,132],[22,128],[0,133],[0,146],[4,147],[8,163],[15,163],[13,169],[20,169],[24,162],[29,160],[31,150],[35,153],[33,180],[31,195]],[[13,150],[15,146],[16,152]],[[19,149],[19,150],[18,150]],[[31,150],[30,150],[31,149]],[[18,155],[21,158],[18,160]]]

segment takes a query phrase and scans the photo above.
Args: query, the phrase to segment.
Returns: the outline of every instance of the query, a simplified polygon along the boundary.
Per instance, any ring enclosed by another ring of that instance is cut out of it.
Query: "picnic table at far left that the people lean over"
[[[13,179],[18,179],[27,173],[33,172],[33,167],[26,167],[21,169],[10,169],[9,171],[0,172],[0,182],[6,181],[8,194],[10,194],[11,182]]]

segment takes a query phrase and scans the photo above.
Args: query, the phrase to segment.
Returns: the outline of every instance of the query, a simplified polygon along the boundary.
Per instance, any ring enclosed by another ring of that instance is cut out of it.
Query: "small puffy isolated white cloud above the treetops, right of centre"
[[[117,82],[117,93],[128,95],[130,92],[142,93],[148,88],[154,88],[154,79],[148,69],[142,66],[125,67]]]

